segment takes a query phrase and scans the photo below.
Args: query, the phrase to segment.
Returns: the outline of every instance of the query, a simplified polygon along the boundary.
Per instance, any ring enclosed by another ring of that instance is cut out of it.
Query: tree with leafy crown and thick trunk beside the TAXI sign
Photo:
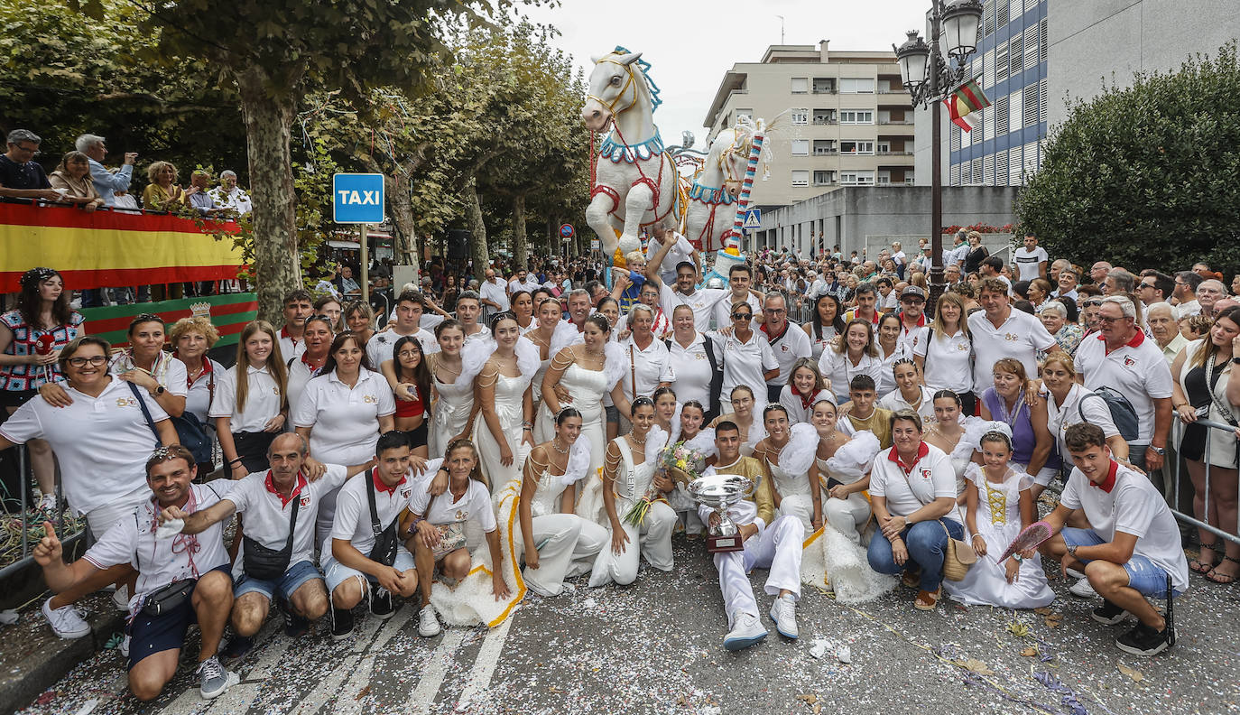
[[[67,0],[105,16],[102,0]],[[290,137],[299,98],[339,89],[362,103],[378,86],[417,89],[441,37],[458,24],[503,17],[511,0],[166,0],[149,6],[139,30],[161,32],[164,57],[198,57],[237,86],[254,199],[254,269],[259,315],[280,317],[299,284],[296,194]]]

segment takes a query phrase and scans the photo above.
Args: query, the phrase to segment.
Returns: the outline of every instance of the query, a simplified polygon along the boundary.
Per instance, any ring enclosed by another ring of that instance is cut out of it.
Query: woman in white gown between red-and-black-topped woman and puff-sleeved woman
[[[439,353],[427,356],[436,396],[430,408],[427,446],[430,457],[443,457],[449,444],[469,438],[472,427],[470,412],[474,410],[474,380],[461,379],[461,346],[465,344],[461,324],[450,318],[444,320],[435,326],[435,340],[439,343]]]

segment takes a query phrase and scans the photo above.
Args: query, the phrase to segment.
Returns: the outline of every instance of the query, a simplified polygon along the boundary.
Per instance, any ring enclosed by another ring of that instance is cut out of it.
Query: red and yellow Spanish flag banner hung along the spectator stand
[[[241,248],[203,231],[234,233],[227,222],[166,214],[86,212],[66,206],[0,204],[0,292],[20,290],[22,272],[47,266],[73,290],[237,277]]]

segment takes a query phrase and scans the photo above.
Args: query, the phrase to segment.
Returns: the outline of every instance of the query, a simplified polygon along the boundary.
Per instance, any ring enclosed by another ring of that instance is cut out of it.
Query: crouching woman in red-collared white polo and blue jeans
[[[921,417],[911,410],[892,415],[892,447],[874,457],[869,498],[879,530],[869,541],[869,566],[904,573],[920,588],[913,606],[934,611],[942,597],[947,536],[965,526],[947,516],[956,509],[956,473],[942,449],[921,439]]]

